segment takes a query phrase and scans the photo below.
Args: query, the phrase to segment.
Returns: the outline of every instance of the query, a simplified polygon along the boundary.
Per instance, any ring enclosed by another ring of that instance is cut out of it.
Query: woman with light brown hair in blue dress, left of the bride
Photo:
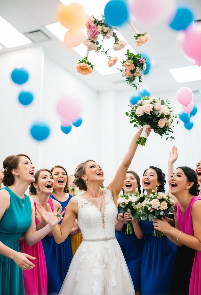
[[[67,172],[60,165],[53,167],[51,172],[55,187],[50,198],[58,201],[64,209],[72,197],[68,193]],[[79,228],[73,227],[70,235],[76,235],[78,232]],[[72,260],[70,236],[64,242],[57,244],[52,234],[47,235],[42,239],[42,245],[47,265],[47,294],[58,294]]]

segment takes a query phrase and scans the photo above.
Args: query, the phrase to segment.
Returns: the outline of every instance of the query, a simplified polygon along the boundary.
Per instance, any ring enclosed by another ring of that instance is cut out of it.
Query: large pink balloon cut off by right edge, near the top
[[[195,23],[179,35],[179,43],[184,53],[201,65],[201,24]]]

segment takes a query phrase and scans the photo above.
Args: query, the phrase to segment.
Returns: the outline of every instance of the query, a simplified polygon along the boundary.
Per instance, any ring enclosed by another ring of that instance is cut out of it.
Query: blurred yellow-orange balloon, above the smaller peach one
[[[60,4],[56,11],[56,18],[67,29],[75,29],[83,27],[87,15],[83,6],[78,3],[67,6]]]

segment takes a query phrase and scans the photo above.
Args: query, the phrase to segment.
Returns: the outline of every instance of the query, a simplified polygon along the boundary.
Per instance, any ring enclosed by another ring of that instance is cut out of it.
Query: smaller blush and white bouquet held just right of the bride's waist
[[[136,208],[137,208],[137,205],[138,206],[141,205],[140,202],[143,200],[144,200],[144,197],[140,198],[137,192],[135,194],[128,193],[128,194],[122,195],[118,197],[118,200],[117,200],[117,204],[118,204],[117,209],[119,209],[118,212],[123,214],[125,212],[128,212],[134,219],[137,219],[138,214],[136,213]],[[132,234],[133,232],[134,230],[133,230],[132,222],[128,221],[125,233]]]

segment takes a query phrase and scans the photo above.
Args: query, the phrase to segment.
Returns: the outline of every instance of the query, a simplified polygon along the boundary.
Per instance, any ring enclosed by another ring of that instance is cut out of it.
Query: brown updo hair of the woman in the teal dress
[[[20,157],[26,157],[31,161],[31,159],[24,154],[12,155],[5,158],[3,162],[4,178],[2,180],[4,186],[11,186],[14,183],[15,177],[11,171],[18,168]]]

